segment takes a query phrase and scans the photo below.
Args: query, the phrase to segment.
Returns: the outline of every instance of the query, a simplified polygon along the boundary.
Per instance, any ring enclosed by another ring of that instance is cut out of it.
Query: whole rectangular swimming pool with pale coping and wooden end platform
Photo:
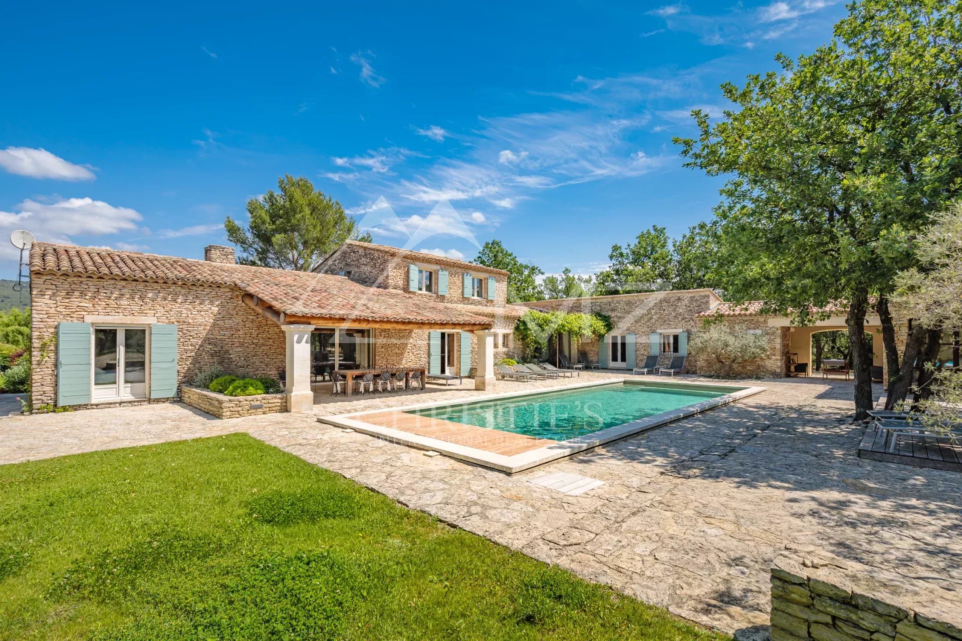
[[[763,391],[755,386],[625,378],[317,420],[514,474]]]

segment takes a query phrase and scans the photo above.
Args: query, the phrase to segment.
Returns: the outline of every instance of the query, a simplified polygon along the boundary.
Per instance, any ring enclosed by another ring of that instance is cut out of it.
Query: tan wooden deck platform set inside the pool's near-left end
[[[364,421],[384,428],[407,431],[418,434],[418,436],[437,438],[455,445],[464,445],[504,456],[515,456],[558,442],[547,438],[516,434],[513,431],[478,428],[473,425],[397,410],[365,414]]]

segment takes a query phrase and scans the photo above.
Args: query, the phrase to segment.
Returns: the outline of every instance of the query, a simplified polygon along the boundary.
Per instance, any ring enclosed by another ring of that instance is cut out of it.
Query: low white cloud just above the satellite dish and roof
[[[99,236],[135,231],[143,218],[137,210],[114,207],[92,198],[54,197],[49,202],[28,198],[15,209],[0,211],[0,237],[9,236],[13,230],[27,230],[42,242],[73,244],[73,235]],[[10,259],[18,255],[9,242],[0,242],[0,258]]]

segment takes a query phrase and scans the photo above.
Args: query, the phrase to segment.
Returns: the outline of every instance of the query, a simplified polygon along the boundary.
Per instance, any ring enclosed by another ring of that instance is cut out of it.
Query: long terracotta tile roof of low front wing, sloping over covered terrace
[[[112,249],[34,243],[31,273],[85,274],[133,281],[226,284],[293,316],[490,327],[491,312],[354,283],[342,276],[180,259]]]

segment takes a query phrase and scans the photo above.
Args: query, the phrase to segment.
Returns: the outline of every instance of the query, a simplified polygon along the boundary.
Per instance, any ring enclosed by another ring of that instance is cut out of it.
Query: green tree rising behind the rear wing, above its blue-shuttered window
[[[630,294],[658,291],[671,287],[674,262],[668,232],[652,225],[631,245],[612,245],[608,255],[611,266],[597,275],[595,293]]]

